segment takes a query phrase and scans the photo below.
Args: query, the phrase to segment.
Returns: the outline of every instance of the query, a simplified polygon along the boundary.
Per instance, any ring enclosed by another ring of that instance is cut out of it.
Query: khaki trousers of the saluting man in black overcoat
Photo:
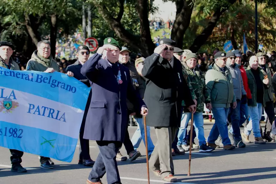
[[[174,174],[172,143],[176,136],[177,127],[154,127],[157,136],[153,153],[149,160],[149,167],[153,171],[161,171],[161,177],[165,178]]]

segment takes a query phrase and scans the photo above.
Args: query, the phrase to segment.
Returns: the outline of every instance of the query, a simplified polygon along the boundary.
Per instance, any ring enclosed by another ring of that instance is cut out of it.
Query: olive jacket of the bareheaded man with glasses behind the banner
[[[31,56],[31,59],[28,61],[26,70],[34,70],[34,71],[41,71],[44,72],[48,68],[54,68],[55,71],[60,72],[60,68],[57,64],[57,61],[51,59],[49,67],[45,64],[44,61],[41,61],[37,55],[37,50]]]

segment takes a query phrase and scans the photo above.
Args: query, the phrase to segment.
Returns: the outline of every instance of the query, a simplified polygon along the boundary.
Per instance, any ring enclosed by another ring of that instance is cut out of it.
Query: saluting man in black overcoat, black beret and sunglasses
[[[177,182],[174,175],[172,143],[181,119],[181,102],[195,112],[192,95],[182,74],[182,65],[173,56],[175,41],[164,38],[154,53],[144,61],[142,75],[146,78],[144,100],[149,107],[147,125],[155,128],[157,143],[149,165],[156,176]]]

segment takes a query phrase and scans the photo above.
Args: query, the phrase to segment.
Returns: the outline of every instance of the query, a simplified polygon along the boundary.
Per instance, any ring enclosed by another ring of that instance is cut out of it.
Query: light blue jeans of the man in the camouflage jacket
[[[181,117],[181,125],[179,128],[179,132],[177,135],[178,138],[178,142],[177,145],[181,145],[181,144],[187,144],[186,140],[187,140],[187,127],[188,127],[188,123],[192,118],[192,113],[183,113],[182,117]],[[194,122],[193,125],[195,127],[195,133],[196,136],[199,140],[199,146],[206,144],[205,141],[205,137],[204,137],[204,128],[203,128],[203,116],[202,113],[194,113]],[[186,140],[184,140],[186,138]]]

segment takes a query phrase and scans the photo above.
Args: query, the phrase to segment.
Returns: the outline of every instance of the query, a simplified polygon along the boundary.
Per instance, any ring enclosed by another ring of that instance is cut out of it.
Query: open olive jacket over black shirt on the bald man
[[[262,68],[258,67],[258,70],[260,71],[261,81],[263,81],[264,80],[264,74],[263,74],[263,72],[261,72]],[[246,68],[245,72],[246,72],[246,75],[247,75],[247,78],[248,78],[248,87],[250,89],[251,96],[252,96],[252,101],[248,101],[247,105],[248,106],[252,106],[252,107],[256,107],[257,106],[257,84],[256,84],[256,81],[255,81],[255,77],[254,77],[254,75],[253,75],[253,73],[251,71],[251,67],[250,66],[248,66]],[[264,92],[265,92],[265,88],[268,88],[268,85],[265,85],[265,84],[263,85]],[[265,94],[263,96],[263,106],[265,107]]]

